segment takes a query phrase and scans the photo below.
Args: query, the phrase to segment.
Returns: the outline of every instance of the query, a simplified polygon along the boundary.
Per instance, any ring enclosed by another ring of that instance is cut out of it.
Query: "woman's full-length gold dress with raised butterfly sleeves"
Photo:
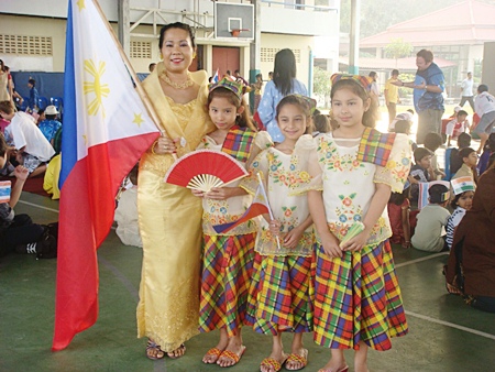
[[[160,84],[164,70],[158,63],[143,81],[161,125],[172,138],[180,138],[177,156],[196,150],[202,136],[213,130],[205,110],[208,79],[204,70],[191,73],[200,86],[198,97],[175,103]],[[177,349],[198,333],[201,255],[201,199],[184,187],[164,183],[174,163],[172,155],[153,154],[140,162],[138,211],[143,240],[138,337],[148,337],[165,352]]]

